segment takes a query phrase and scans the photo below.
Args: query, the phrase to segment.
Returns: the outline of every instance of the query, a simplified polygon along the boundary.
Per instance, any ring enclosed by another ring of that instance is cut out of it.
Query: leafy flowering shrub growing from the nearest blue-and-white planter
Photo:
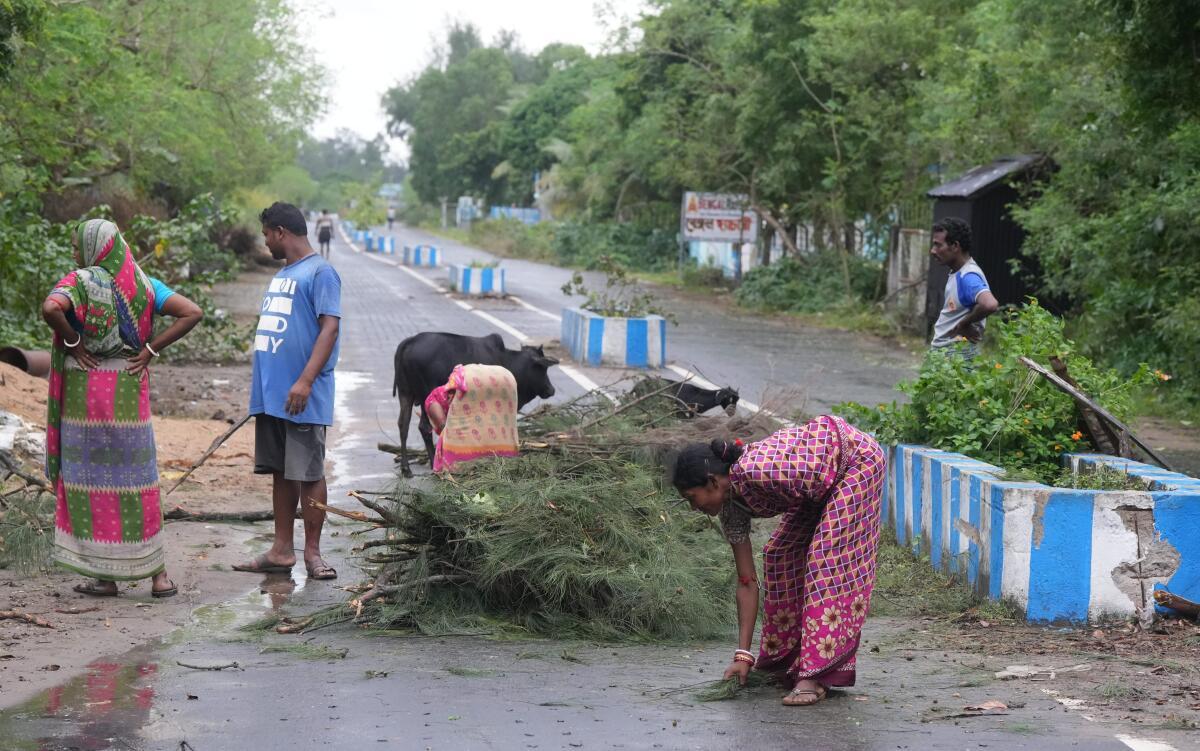
[[[1080,389],[1120,419],[1128,417],[1134,390],[1156,379],[1145,365],[1132,378],[1097,366],[1036,300],[1007,319],[994,318],[988,341],[974,360],[930,352],[917,378],[900,385],[907,404],[872,409],[847,402],[835,409],[886,444],[924,444],[1049,477],[1063,452],[1092,446],[1078,427],[1074,399],[1021,365],[1021,355],[1040,364],[1057,355]]]

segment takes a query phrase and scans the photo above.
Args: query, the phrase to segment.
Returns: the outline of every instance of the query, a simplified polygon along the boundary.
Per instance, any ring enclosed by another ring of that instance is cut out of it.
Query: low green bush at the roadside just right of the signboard
[[[850,264],[852,301],[870,301],[876,296],[880,264],[858,256]],[[751,269],[738,287],[737,301],[754,310],[818,313],[846,301],[842,254],[821,251],[790,256],[769,266]]]

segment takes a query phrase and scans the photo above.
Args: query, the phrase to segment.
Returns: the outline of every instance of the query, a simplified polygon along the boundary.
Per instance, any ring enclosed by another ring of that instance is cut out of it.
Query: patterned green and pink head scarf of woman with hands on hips
[[[154,330],[154,288],[121,230],[107,220],[89,220],[76,227],[73,239],[78,268],[62,277],[53,293],[71,300],[79,346],[102,360],[140,350]],[[55,335],[46,419],[46,475],[50,482],[59,471],[65,378],[66,347]]]

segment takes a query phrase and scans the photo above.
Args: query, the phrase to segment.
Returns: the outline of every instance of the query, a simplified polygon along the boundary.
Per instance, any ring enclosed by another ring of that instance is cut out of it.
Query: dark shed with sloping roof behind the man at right
[[[925,193],[934,199],[934,222],[958,217],[971,226],[971,257],[988,276],[1001,305],[1018,304],[1033,293],[1036,271],[1021,256],[1025,230],[1009,212],[1020,190],[1045,175],[1049,161],[1036,154],[998,158],[976,167],[958,180]],[[1018,270],[1014,271],[1013,262]],[[931,330],[942,310],[949,270],[930,264],[925,295],[925,319]]]

